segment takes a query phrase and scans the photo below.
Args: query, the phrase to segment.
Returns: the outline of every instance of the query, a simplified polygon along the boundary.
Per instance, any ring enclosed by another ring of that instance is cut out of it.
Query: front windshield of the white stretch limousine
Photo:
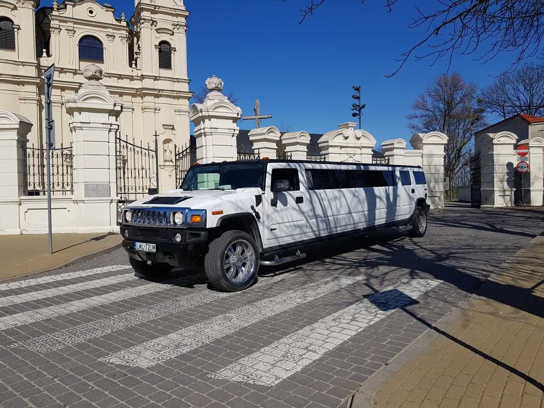
[[[191,190],[236,190],[244,187],[264,189],[262,164],[217,164],[192,167],[181,187]]]

